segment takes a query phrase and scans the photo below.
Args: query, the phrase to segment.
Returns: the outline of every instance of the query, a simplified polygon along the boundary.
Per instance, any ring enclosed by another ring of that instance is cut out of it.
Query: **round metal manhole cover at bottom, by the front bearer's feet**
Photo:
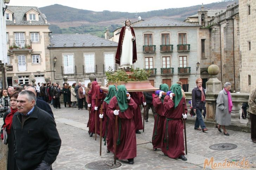
[[[90,162],[85,165],[85,168],[92,169],[92,170],[105,170],[105,169],[115,169],[120,167],[122,164],[114,161],[97,161],[97,162]]]

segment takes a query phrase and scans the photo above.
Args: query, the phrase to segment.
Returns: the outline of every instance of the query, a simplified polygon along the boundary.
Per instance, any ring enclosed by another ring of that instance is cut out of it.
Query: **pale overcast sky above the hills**
[[[146,12],[166,8],[180,8],[194,5],[210,4],[221,0],[10,0],[11,6],[37,6],[44,7],[60,4],[90,11],[120,11],[120,12]],[[71,3],[72,2],[72,3]],[[120,3],[121,2],[121,3]],[[132,2],[125,4],[124,2]]]

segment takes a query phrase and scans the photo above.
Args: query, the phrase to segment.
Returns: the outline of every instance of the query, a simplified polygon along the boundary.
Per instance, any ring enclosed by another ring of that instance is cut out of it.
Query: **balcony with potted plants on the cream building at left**
[[[14,51],[28,51],[32,52],[31,40],[9,40],[8,51],[13,54]]]

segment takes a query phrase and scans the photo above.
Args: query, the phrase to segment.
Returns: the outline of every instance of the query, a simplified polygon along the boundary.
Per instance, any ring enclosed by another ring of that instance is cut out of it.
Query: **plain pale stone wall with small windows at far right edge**
[[[256,87],[256,1],[239,0],[239,43],[241,91],[250,93]]]

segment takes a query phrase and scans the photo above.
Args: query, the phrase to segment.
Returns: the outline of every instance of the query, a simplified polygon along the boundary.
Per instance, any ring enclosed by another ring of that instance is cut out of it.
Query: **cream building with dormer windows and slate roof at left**
[[[45,82],[51,76],[47,45],[49,23],[37,7],[8,6],[6,16],[7,84]]]

